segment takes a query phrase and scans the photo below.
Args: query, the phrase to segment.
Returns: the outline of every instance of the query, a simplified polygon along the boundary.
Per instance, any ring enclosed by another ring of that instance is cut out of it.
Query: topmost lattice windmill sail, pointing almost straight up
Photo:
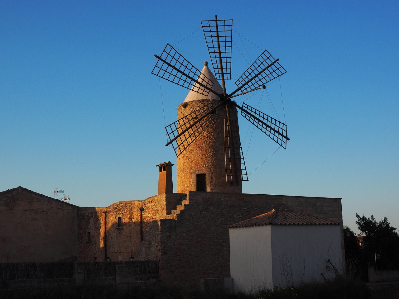
[[[216,79],[231,79],[233,20],[201,21],[201,25]]]

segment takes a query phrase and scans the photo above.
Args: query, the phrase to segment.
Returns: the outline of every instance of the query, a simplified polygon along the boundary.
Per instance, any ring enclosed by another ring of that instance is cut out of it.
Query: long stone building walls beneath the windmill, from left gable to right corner
[[[164,283],[198,287],[201,278],[230,275],[227,226],[272,209],[298,210],[342,223],[337,198],[190,191],[80,208],[18,187],[0,193],[0,261],[103,261],[107,231],[111,261],[130,256],[160,260]],[[344,256],[342,226],[341,234]]]

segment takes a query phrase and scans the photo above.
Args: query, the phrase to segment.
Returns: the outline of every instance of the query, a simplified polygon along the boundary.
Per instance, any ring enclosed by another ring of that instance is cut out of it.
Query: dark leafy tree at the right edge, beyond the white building
[[[377,222],[374,216],[356,214],[356,224],[363,234],[363,250],[368,262],[377,260],[377,269],[399,269],[399,234],[387,217]]]

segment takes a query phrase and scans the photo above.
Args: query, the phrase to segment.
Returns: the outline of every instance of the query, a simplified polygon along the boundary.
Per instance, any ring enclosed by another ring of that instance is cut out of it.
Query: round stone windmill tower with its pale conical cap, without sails
[[[223,94],[223,88],[209,69],[207,61],[201,74],[214,83],[213,90]],[[178,107],[178,119],[184,119],[194,111],[207,106],[216,107],[219,102],[220,97],[212,92],[204,96],[190,90],[184,102]],[[238,128],[236,127],[236,132],[225,130],[225,126],[228,125],[227,120],[230,123],[238,123],[237,109],[233,105],[222,105],[211,113],[212,121],[204,126],[203,132],[177,157],[178,193],[188,191],[242,193],[241,181],[243,176],[246,179],[246,172],[239,146]],[[180,128],[181,125],[178,130]],[[227,132],[231,133],[230,136],[225,134]]]

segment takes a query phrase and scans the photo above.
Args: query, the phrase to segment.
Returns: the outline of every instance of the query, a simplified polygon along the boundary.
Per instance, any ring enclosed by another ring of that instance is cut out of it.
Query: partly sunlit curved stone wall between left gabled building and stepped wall
[[[166,196],[168,195],[168,196]],[[113,262],[159,259],[159,219],[171,214],[186,194],[164,193],[144,201],[119,201],[109,207],[79,208],[79,262],[104,261],[105,214],[107,211],[107,256]],[[143,211],[143,242],[140,240],[140,207]],[[118,226],[122,217],[122,226]],[[91,240],[87,240],[90,232]],[[158,241],[157,241],[158,240]]]

